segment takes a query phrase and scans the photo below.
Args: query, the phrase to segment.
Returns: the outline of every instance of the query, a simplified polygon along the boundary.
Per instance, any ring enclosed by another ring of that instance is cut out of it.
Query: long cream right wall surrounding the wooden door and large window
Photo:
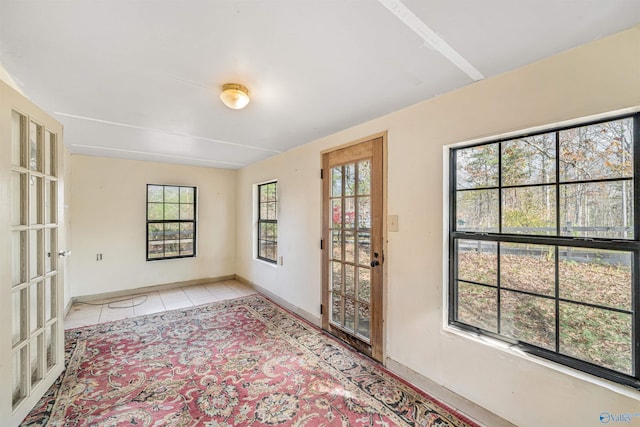
[[[320,316],[320,152],[388,131],[386,355],[519,426],[596,426],[640,393],[443,328],[443,150],[640,106],[640,27],[469,85],[239,171],[236,273]],[[322,118],[318,118],[322,120]],[[277,179],[284,265],[253,257],[252,186]],[[445,224],[445,225],[443,225]]]

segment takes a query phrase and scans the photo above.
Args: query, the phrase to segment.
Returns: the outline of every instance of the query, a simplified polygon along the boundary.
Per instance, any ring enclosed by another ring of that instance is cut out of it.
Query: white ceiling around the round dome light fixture
[[[0,0],[0,64],[74,153],[240,168],[638,23],[640,0]]]

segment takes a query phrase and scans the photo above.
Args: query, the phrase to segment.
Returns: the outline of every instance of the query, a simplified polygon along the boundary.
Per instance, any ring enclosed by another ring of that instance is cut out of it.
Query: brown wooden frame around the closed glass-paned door
[[[328,197],[328,188],[329,185],[327,184],[327,180],[330,179],[330,174],[328,173],[328,170],[324,170],[325,169],[325,164],[324,164],[324,159],[325,159],[325,154],[334,152],[334,151],[338,151],[338,150],[342,150],[345,148],[349,148],[358,144],[361,144],[363,142],[368,142],[368,141],[372,141],[372,140],[376,140],[376,139],[382,139],[382,147],[381,147],[381,156],[382,156],[382,165],[381,165],[381,177],[380,177],[380,192],[381,192],[381,204],[382,204],[382,212],[381,212],[381,218],[380,218],[380,223],[381,223],[381,227],[382,227],[382,235],[381,235],[381,242],[380,245],[381,250],[382,250],[382,257],[381,257],[381,264],[380,264],[380,268],[382,268],[382,272],[381,272],[381,289],[378,295],[378,301],[375,301],[375,303],[377,303],[380,307],[380,315],[381,315],[381,319],[380,321],[380,328],[379,328],[379,333],[378,336],[373,336],[371,337],[371,347],[372,347],[372,354],[371,357],[377,361],[379,361],[380,363],[382,363],[383,365],[386,363],[386,322],[385,322],[385,318],[386,318],[386,313],[387,313],[387,303],[386,303],[386,299],[387,299],[387,269],[385,268],[385,264],[386,264],[386,254],[387,254],[387,132],[379,132],[376,134],[372,134],[360,139],[357,139],[355,141],[346,143],[346,144],[342,144],[339,146],[335,146],[332,147],[330,149],[326,149],[326,150],[322,150],[320,152],[320,164],[321,164],[321,168],[323,170],[323,174],[325,176],[325,179],[322,180],[322,191],[321,191],[321,206],[322,206],[322,215],[321,215],[321,222],[322,222],[322,239],[323,239],[323,250],[321,252],[321,266],[322,266],[322,277],[321,277],[321,290],[322,290],[322,308],[323,308],[323,312],[322,312],[322,316],[321,316],[321,323],[322,323],[322,329],[329,331],[329,292],[328,292],[328,280],[329,280],[329,257],[327,256],[327,251],[329,250],[329,241],[330,239],[328,239],[327,235],[328,235],[328,216],[325,215],[324,210],[326,209],[325,206],[325,200],[327,200]],[[372,303],[374,303],[373,301],[373,295],[372,295]],[[373,319],[372,319],[372,324],[373,324]],[[373,329],[372,329],[373,332]]]

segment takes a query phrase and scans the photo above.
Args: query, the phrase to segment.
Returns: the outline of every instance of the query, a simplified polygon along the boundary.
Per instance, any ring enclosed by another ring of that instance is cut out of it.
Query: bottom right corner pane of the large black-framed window
[[[560,352],[631,375],[630,314],[560,303]]]

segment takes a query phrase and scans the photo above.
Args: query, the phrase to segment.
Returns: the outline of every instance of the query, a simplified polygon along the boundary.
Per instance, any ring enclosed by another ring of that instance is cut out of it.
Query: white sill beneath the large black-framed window
[[[570,377],[576,378],[581,381],[586,381],[598,387],[606,388],[607,390],[629,397],[631,399],[640,400],[640,390],[636,390],[633,387],[618,384],[613,381],[609,381],[604,378],[590,375],[586,372],[578,371],[568,366],[560,365],[558,363],[543,359],[533,354],[524,352],[512,344],[508,344],[484,335],[474,334],[473,332],[464,331],[451,325],[446,325],[443,328],[443,333],[448,336],[455,336],[466,340],[472,340],[476,343],[491,347],[495,350],[502,351],[503,353],[506,353],[510,356],[524,359],[536,365],[552,369],[553,371],[560,374],[568,375]]]

